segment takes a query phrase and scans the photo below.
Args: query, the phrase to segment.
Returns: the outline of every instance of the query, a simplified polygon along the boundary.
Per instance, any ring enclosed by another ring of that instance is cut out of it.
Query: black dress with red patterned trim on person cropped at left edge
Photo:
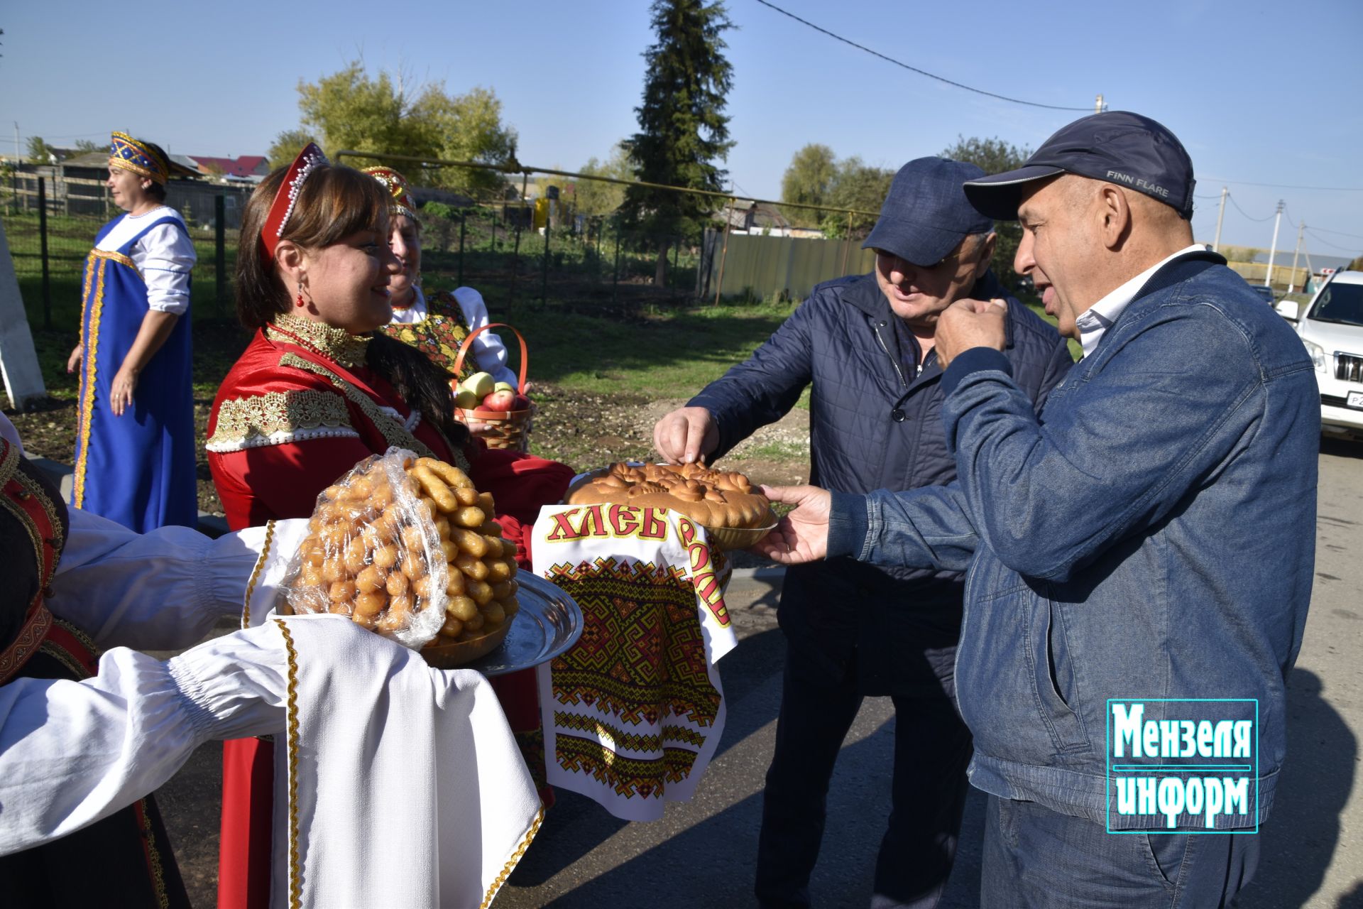
[[[93,676],[95,646],[44,605],[67,536],[67,507],[19,448],[0,437],[0,684]],[[5,906],[188,906],[151,796],[41,846],[0,857]]]

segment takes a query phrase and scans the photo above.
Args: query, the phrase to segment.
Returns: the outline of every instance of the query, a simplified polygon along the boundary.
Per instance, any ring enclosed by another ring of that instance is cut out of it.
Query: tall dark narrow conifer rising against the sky
[[[733,67],[724,57],[725,30],[733,27],[722,3],[654,0],[657,44],[643,52],[647,76],[635,108],[639,131],[626,140],[635,176],[691,189],[718,192],[728,176],[717,164],[728,157],[729,117],[724,101]],[[628,187],[624,211],[631,226],[658,240],[654,283],[667,277],[668,236],[695,237],[716,203],[687,192]]]

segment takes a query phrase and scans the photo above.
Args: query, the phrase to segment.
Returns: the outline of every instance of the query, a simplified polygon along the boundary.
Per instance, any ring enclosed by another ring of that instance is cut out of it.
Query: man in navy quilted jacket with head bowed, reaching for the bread
[[[955,478],[939,413],[936,319],[962,297],[1006,297],[988,267],[994,222],[961,189],[980,176],[940,158],[904,165],[863,244],[876,251],[875,273],[815,288],[747,363],[658,421],[658,451],[672,462],[713,462],[781,418],[812,383],[811,482],[871,492]],[[1073,361],[1055,328],[1009,303],[1005,356],[1040,407]],[[851,559],[791,568],[777,613],[788,650],[758,845],[762,905],[810,904],[833,763],[866,695],[889,695],[895,710],[874,905],[936,904],[970,758],[953,703],[961,597],[953,571]]]

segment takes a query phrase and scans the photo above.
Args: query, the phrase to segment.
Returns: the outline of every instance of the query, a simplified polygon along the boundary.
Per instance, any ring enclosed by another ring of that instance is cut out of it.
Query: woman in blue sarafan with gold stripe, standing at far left
[[[164,204],[169,159],[114,132],[108,187],[127,211],[86,259],[71,503],[146,533],[198,523],[189,271],[194,243]]]

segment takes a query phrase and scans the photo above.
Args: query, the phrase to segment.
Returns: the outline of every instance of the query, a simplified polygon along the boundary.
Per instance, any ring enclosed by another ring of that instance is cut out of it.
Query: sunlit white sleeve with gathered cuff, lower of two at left
[[[117,647],[93,679],[0,687],[0,854],[132,804],[204,741],[282,732],[288,679],[270,623],[165,662]]]

